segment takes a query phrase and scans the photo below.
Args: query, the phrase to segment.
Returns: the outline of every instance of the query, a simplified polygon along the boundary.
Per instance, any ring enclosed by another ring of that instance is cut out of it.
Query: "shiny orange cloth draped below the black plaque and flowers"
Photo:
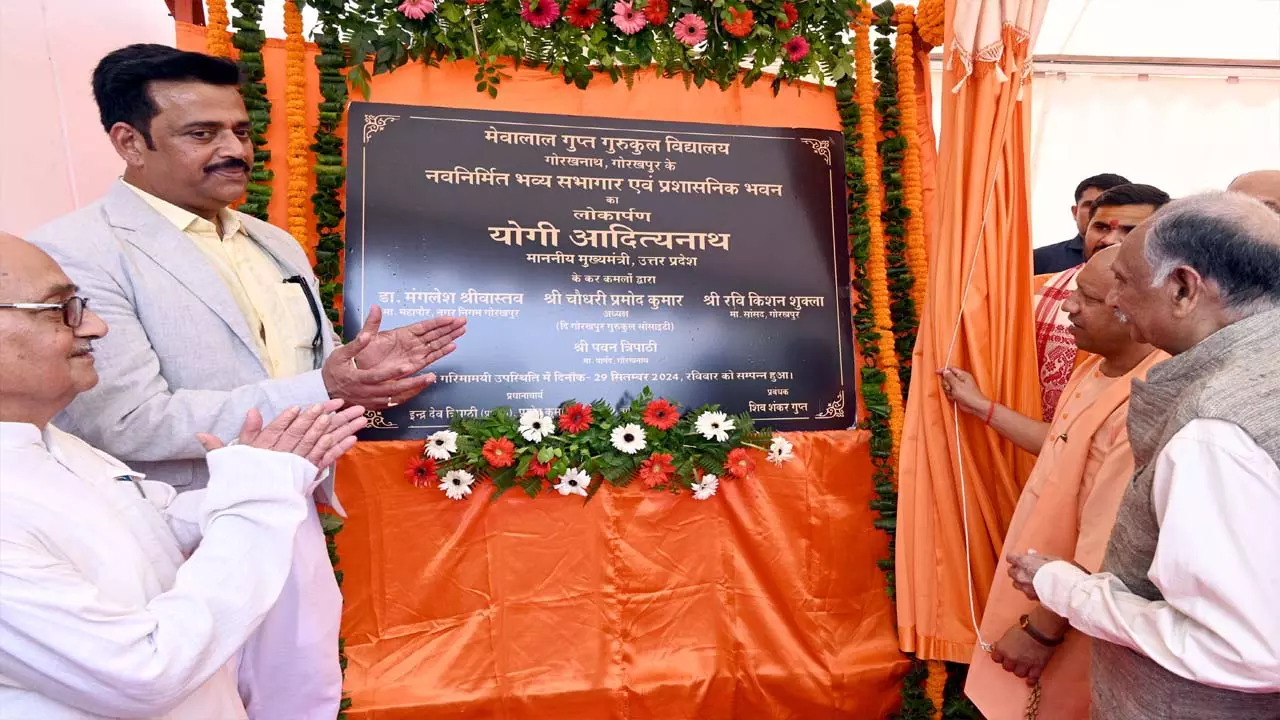
[[[416,442],[339,465],[349,518],[355,719],[882,717],[906,660],[876,566],[861,432],[788,436],[796,459],[698,502],[404,480]]]

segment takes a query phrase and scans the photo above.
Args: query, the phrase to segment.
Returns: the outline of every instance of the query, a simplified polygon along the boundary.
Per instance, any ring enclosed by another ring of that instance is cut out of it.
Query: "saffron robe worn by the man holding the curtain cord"
[[[1036,552],[1075,560],[1089,570],[1102,566],[1111,527],[1133,477],[1129,451],[1129,388],[1135,378],[1169,356],[1155,351],[1123,377],[1102,374],[1102,359],[1091,356],[1071,375],[1048,437],[1018,500],[1005,556]],[[1014,589],[1001,557],[982,616],[983,638],[995,643],[1018,625],[1036,603]],[[965,694],[987,720],[1025,717],[1027,682],[974,650]],[[1068,633],[1041,675],[1039,720],[1089,716],[1089,638]]]

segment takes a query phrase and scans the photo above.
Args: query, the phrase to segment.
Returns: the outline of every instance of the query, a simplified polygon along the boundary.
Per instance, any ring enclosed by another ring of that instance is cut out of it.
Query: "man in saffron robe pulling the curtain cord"
[[[1106,305],[1115,284],[1117,247],[1097,251],[1062,304],[1071,334],[1088,359],[1073,373],[1051,424],[1038,423],[975,395],[963,375],[945,370],[943,389],[969,413],[1020,446],[1038,439],[1036,468],[1005,537],[1006,552],[1034,548],[1102,564],[1124,488],[1133,474],[1125,420],[1129,386],[1167,356],[1130,337]],[[1068,633],[1066,620],[1029,601],[1007,578],[1002,561],[982,616],[989,657],[974,650],[965,692],[988,720],[1025,717],[1030,685],[1041,683],[1039,719],[1088,716],[1089,638]]]

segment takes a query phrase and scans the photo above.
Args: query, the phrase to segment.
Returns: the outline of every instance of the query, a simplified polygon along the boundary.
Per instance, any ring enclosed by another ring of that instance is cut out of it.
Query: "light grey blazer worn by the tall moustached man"
[[[301,275],[319,301],[306,254],[284,231],[239,215],[247,234]],[[320,370],[271,379],[248,323],[192,241],[116,181],[100,201],[28,236],[52,255],[102,316],[97,387],[56,419],[61,429],[179,491],[209,482],[196,433],[230,441],[257,407],[266,420],[329,398]],[[321,314],[319,368],[337,343]]]

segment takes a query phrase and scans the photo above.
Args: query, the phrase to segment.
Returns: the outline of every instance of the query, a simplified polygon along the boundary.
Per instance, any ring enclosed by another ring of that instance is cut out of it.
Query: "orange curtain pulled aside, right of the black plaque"
[[[982,8],[1016,13],[1010,5],[1016,3]],[[956,0],[948,0],[948,47],[955,13]],[[974,74],[956,92],[950,90],[965,74],[964,63],[957,59],[943,72],[938,234],[929,250],[929,297],[913,356],[899,460],[899,638],[902,650],[925,660],[968,662],[973,653],[963,511],[969,519],[974,612],[980,616],[1033,464],[980,418],[956,418],[934,375],[948,364],[964,368],[988,397],[1025,415],[1038,413],[1028,208],[1032,88],[1025,85],[1029,76],[1019,72],[1030,45],[1006,46],[1001,73]]]

